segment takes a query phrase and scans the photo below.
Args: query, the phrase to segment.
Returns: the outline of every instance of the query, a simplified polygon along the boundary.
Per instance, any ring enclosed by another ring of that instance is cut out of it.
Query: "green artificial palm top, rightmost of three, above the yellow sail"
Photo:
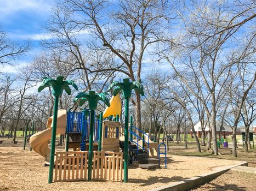
[[[123,98],[132,97],[132,90],[134,89],[136,92],[139,92],[141,96],[144,96],[143,85],[141,85],[141,81],[133,81],[130,82],[130,79],[123,79],[123,82],[112,82],[109,90],[113,87],[117,86],[113,90],[113,96],[116,96],[118,93],[123,91]]]

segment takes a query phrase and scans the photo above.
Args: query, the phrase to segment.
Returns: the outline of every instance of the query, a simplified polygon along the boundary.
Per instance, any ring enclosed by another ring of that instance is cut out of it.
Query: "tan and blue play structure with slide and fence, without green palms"
[[[89,149],[89,112],[58,111],[56,135],[66,134],[66,151],[56,152],[54,182],[87,180],[87,164]],[[30,138],[31,148],[49,163],[49,140],[52,136],[53,116],[48,119],[47,129],[36,133]],[[93,129],[93,180],[122,181],[124,127],[117,121],[100,121],[94,119]],[[129,128],[129,163],[139,162],[146,169],[159,167],[158,144],[149,141],[149,135],[132,124]],[[100,124],[102,124],[101,151],[99,151]],[[138,133],[141,132],[143,138]],[[146,137],[146,139],[145,139]],[[157,147],[157,148],[155,148]],[[70,151],[72,149],[73,151]],[[78,151],[77,151],[78,150]],[[153,152],[152,152],[153,150]],[[153,164],[151,164],[153,161]]]

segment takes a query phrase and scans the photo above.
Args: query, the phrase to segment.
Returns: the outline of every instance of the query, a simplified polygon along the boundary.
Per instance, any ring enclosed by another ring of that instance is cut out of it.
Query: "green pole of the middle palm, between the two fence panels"
[[[88,181],[92,180],[94,110],[90,110],[90,135],[88,151]]]

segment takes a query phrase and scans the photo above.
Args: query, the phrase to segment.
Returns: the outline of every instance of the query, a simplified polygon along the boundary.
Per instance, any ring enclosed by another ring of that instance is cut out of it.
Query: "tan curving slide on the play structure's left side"
[[[66,132],[66,121],[67,114],[66,110],[58,110],[58,119],[57,119],[57,130],[56,135],[64,135]],[[30,138],[31,148],[41,156],[45,158],[45,162],[50,161],[50,148],[48,147],[49,140],[52,139],[53,131],[53,116],[51,116],[47,121],[47,129],[42,130],[33,134]]]

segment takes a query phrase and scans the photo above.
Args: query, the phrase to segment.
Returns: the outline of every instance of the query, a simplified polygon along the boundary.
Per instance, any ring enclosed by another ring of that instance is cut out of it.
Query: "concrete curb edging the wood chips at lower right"
[[[195,176],[189,179],[185,179],[184,181],[180,182],[174,182],[171,184],[168,184],[167,186],[162,186],[158,188],[153,188],[151,191],[185,191],[192,188],[195,188],[201,184],[204,184],[206,182],[209,182],[213,180],[215,177],[223,174],[224,172],[228,171],[231,168],[235,168],[236,166],[248,166],[248,162],[243,161],[240,164],[235,165],[227,165],[227,166],[221,166],[218,168],[215,168],[213,172],[208,172],[199,176]]]

